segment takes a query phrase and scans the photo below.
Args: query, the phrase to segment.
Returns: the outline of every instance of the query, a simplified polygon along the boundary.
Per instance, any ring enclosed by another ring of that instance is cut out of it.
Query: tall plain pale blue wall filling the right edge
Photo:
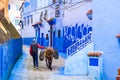
[[[93,40],[94,50],[104,53],[104,80],[115,80],[120,68],[120,1],[94,0]]]

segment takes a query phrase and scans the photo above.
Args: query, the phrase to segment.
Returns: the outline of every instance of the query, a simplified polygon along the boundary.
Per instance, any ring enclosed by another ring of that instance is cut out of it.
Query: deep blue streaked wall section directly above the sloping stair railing
[[[80,40],[82,37],[86,36],[92,32],[92,26],[88,24],[76,23],[74,25],[66,25],[64,27],[64,40],[63,40],[63,51],[66,52],[66,49]]]

